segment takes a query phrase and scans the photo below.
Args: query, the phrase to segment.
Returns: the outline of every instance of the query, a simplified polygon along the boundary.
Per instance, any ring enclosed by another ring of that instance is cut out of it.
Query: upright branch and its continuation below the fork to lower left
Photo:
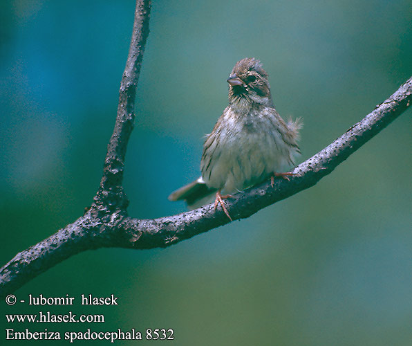
[[[122,188],[124,156],[135,118],[135,94],[140,67],[149,35],[150,0],[137,0],[131,36],[122,82],[120,83],[118,115],[113,135],[107,146],[106,159],[100,188],[91,209],[73,224],[44,239],[26,251],[18,253],[0,269],[0,295],[14,291],[51,266],[71,255],[92,248],[112,246],[121,237],[115,233],[119,215],[127,214],[129,200]],[[105,232],[112,229],[114,232]],[[104,237],[106,241],[104,241]],[[95,242],[95,239],[99,240]],[[106,245],[105,245],[106,243]]]

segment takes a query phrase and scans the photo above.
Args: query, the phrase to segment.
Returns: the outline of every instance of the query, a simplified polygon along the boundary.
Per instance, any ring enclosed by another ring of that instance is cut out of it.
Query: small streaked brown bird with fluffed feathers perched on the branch
[[[286,123],[274,109],[268,73],[259,60],[238,61],[227,82],[229,106],[206,136],[202,176],[171,193],[169,200],[184,199],[194,209],[214,199],[214,208],[220,203],[232,221],[223,199],[265,179],[270,178],[273,186],[274,176],[292,175],[278,172],[300,154],[297,140],[302,123],[299,118]]]

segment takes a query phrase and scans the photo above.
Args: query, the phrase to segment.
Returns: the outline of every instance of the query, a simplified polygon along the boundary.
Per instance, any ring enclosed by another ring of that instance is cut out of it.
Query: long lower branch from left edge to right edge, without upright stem
[[[236,194],[226,201],[233,219],[250,217],[270,204],[310,188],[332,172],[339,163],[373,138],[412,104],[412,78],[388,100],[328,147],[322,149],[294,169],[290,181],[277,180]],[[0,295],[18,289],[32,277],[81,251],[100,247],[156,248],[170,246],[199,233],[227,224],[220,208],[212,204],[191,212],[159,219],[133,219],[125,210],[109,212],[92,207],[73,224],[15,256],[0,269]]]

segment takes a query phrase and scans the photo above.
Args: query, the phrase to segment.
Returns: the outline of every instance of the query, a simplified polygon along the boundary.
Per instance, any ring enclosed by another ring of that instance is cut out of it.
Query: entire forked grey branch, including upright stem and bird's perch
[[[135,90],[149,33],[149,12],[150,1],[138,0],[129,57],[120,86],[118,116],[95,202],[73,224],[18,253],[3,266],[0,269],[0,296],[15,291],[48,268],[82,251],[101,247],[166,247],[229,222],[223,210],[215,211],[212,205],[158,219],[127,216],[128,200],[122,188],[124,156],[135,118]],[[268,181],[227,200],[232,219],[250,217],[270,204],[315,185],[411,104],[412,78],[345,134],[297,166],[293,171],[296,175],[290,181],[278,179],[273,188]]]

